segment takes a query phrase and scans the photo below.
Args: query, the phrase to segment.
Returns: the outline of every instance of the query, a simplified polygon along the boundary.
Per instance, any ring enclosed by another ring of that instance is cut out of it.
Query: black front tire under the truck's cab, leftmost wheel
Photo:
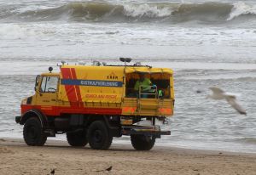
[[[23,127],[23,138],[26,144],[30,146],[43,146],[45,144],[47,136],[37,117],[26,120]]]

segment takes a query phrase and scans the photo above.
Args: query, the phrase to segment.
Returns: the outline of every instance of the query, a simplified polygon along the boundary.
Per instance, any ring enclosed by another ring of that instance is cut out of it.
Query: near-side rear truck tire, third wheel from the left
[[[113,137],[104,121],[94,121],[88,128],[87,139],[93,150],[108,150]]]

